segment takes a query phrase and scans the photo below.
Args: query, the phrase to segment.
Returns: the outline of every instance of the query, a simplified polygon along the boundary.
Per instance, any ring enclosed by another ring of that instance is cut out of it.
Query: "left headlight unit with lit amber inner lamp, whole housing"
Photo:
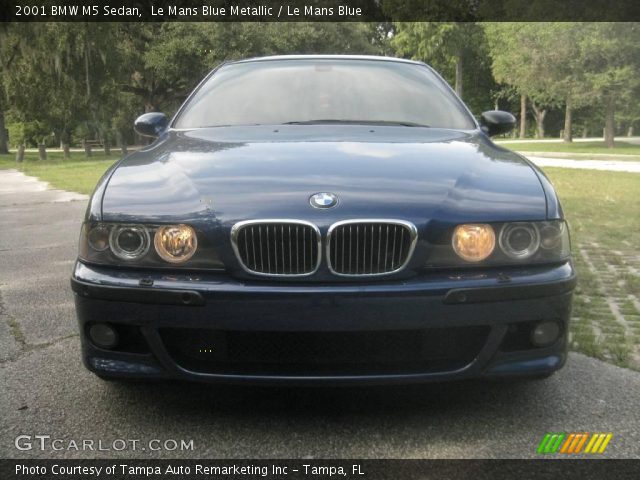
[[[96,265],[224,270],[215,246],[200,235],[184,224],[85,222],[78,258]]]

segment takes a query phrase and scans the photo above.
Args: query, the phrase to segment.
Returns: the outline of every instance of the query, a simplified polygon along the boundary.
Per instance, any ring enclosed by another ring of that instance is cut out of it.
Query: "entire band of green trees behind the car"
[[[307,53],[425,61],[522,137],[640,130],[636,23],[21,23],[0,25],[0,153],[140,142],[136,116],[172,114],[219,63]]]

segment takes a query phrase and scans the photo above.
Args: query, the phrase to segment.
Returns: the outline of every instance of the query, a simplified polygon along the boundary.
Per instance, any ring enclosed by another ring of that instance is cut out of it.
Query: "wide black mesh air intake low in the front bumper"
[[[160,329],[171,357],[197,372],[380,375],[451,371],[476,358],[487,326],[406,331],[268,332]]]

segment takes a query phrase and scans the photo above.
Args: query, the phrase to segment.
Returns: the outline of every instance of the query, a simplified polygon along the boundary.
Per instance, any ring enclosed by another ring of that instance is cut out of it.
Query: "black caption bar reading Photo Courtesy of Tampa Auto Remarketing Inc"
[[[499,453],[499,452],[496,452]],[[640,460],[0,460],[2,480],[637,479]]]

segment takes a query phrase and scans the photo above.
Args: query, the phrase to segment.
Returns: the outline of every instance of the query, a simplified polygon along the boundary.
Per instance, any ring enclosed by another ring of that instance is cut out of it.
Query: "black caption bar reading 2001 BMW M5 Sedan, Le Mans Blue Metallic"
[[[2,22],[640,21],[638,0],[4,0]]]

